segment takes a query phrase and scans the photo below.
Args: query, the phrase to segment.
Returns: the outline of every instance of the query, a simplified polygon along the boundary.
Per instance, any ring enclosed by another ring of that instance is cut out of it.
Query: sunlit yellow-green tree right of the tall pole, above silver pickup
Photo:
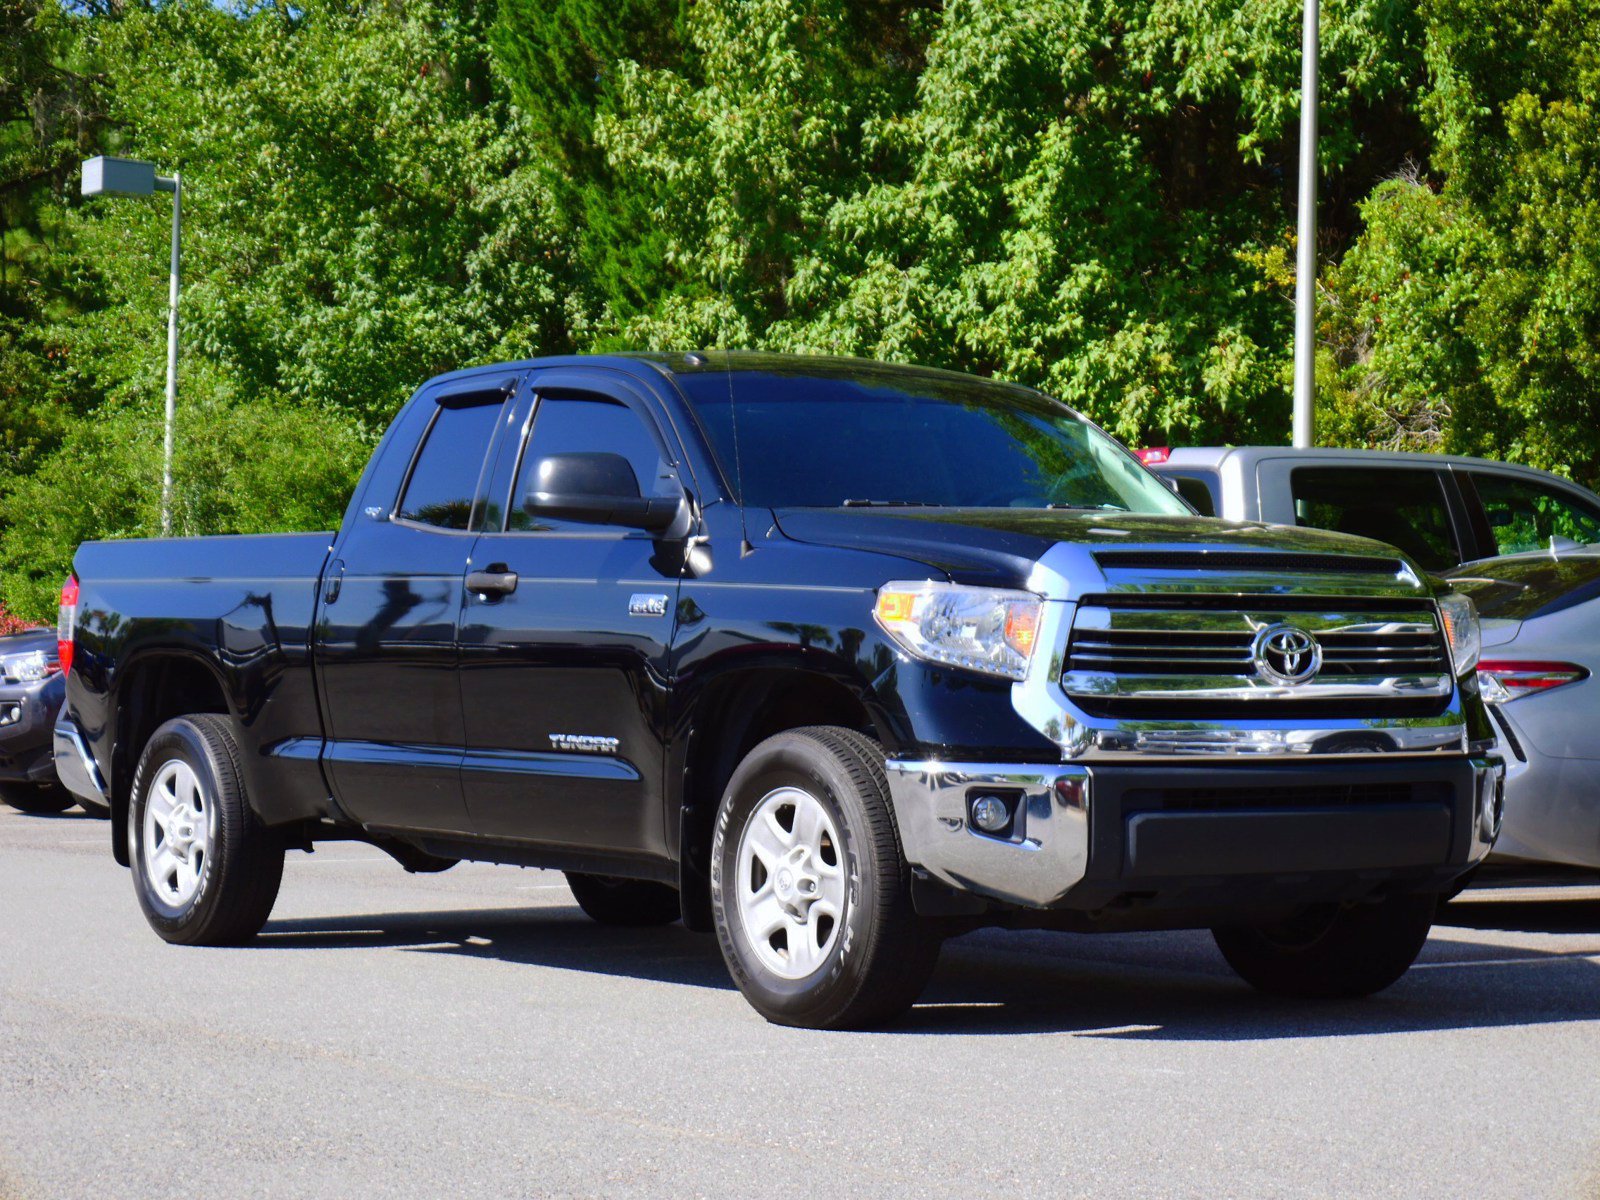
[[[1600,8],[1429,0],[1427,174],[1331,275],[1325,394],[1355,442],[1600,480]]]

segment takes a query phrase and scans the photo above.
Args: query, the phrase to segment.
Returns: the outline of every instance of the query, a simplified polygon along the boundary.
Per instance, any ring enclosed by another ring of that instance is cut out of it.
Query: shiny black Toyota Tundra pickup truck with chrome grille
[[[1464,597],[939,371],[446,374],[338,533],[85,544],[61,635],[58,766],[162,938],[250,939],[286,850],[358,838],[715,930],[800,1026],[894,1016],[982,925],[1373,992],[1499,824]]]

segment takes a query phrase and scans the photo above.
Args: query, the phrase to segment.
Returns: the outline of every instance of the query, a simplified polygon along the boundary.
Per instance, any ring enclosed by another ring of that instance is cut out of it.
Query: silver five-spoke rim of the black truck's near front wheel
[[[838,830],[822,802],[800,787],[762,797],[739,835],[734,901],[755,955],[782,979],[827,962],[845,918]]]

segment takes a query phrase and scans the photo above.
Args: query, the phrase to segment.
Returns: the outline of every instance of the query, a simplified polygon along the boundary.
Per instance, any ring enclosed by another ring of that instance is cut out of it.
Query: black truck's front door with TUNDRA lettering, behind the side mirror
[[[667,650],[682,546],[523,509],[550,456],[606,456],[640,496],[682,494],[682,454],[654,402],[600,371],[546,371],[518,402],[461,581],[462,787],[478,834],[573,851],[666,856],[661,802]],[[570,461],[570,459],[568,459]],[[490,522],[493,528],[493,520]]]

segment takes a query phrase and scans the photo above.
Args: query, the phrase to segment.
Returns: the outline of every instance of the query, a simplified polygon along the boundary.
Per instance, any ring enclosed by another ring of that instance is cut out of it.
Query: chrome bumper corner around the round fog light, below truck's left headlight
[[[1082,766],[941,763],[891,758],[890,797],[906,859],[962,891],[1048,907],[1090,861],[1090,778]],[[1016,835],[966,824],[971,792],[1021,795]]]

